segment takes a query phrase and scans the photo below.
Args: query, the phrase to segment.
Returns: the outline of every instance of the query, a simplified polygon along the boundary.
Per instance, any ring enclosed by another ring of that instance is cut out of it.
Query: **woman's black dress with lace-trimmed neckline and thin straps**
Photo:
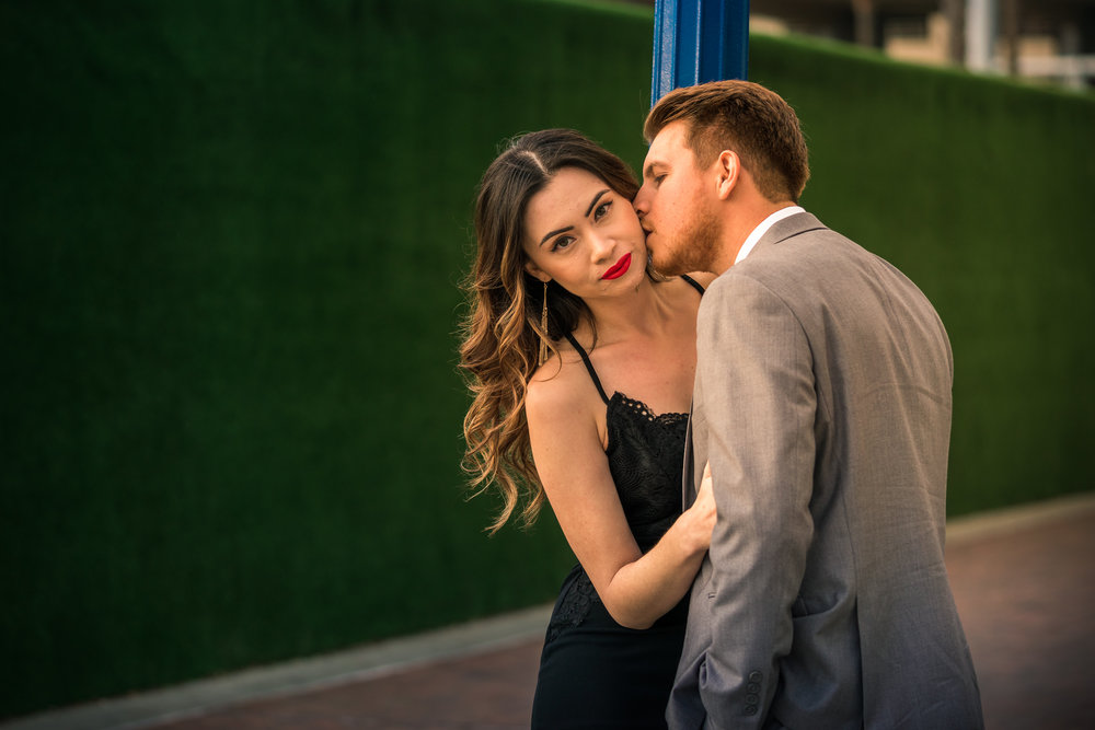
[[[567,338],[608,406],[604,453],[627,524],[646,553],[681,514],[688,414],[656,416],[619,392],[609,398],[586,351]],[[664,730],[687,618],[685,595],[650,628],[625,628],[609,615],[581,566],[575,566],[548,624],[532,727]]]

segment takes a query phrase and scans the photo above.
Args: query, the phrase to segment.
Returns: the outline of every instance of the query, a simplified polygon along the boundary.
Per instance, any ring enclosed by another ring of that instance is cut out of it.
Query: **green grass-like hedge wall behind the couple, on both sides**
[[[0,4],[0,717],[551,600],[550,515],[464,501],[457,283],[503,138],[638,166],[650,20]],[[764,37],[751,77],[950,331],[953,512],[1090,488],[1095,103]]]

